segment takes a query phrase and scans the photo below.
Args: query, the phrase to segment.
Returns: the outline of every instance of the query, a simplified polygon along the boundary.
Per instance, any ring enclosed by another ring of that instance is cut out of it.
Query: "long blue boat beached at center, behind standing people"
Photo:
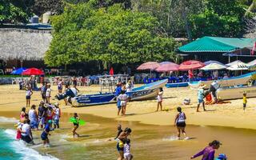
[[[164,79],[162,81],[152,82],[150,84],[134,88],[131,92],[127,92],[126,94],[130,95],[131,101],[156,98],[158,89],[165,86],[167,81],[167,79]],[[71,98],[71,102],[72,106],[93,106],[116,102],[116,99],[117,98],[114,93],[82,94]]]

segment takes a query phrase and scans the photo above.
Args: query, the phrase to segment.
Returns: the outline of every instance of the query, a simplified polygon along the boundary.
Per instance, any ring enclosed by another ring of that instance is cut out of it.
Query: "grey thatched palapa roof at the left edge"
[[[0,28],[0,59],[42,60],[51,38],[50,30]]]

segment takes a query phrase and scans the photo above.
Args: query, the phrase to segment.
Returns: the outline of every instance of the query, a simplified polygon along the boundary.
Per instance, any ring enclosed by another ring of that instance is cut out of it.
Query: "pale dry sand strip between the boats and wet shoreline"
[[[57,86],[52,86],[52,98],[57,94]],[[98,93],[99,86],[79,86],[81,94]],[[18,90],[17,85],[0,86],[0,112],[1,111],[19,111],[22,106],[26,106],[25,90]],[[182,106],[186,113],[187,124],[195,126],[230,126],[235,128],[256,129],[256,98],[249,98],[246,112],[242,110],[242,99],[226,101],[224,104],[206,105],[206,112],[196,112],[197,91],[189,88],[164,88],[163,108],[168,111],[156,110],[157,102],[155,99],[142,102],[129,102],[127,105],[126,116],[117,116],[116,104],[102,106],[71,107],[65,106],[61,101],[62,112],[79,114],[92,114],[104,118],[114,118],[118,121],[138,121],[143,124],[154,125],[173,125],[174,116],[177,113],[176,107]],[[184,98],[190,98],[189,106],[182,105]],[[39,91],[34,91],[31,98],[31,104],[41,101]],[[58,102],[54,99],[51,102]]]

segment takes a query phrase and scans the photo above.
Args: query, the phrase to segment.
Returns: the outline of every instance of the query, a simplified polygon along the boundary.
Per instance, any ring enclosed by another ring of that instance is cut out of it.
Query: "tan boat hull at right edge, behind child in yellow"
[[[219,88],[216,91],[217,98],[220,100],[230,100],[242,98],[242,94],[246,93],[247,98],[256,97],[256,86],[239,86]]]

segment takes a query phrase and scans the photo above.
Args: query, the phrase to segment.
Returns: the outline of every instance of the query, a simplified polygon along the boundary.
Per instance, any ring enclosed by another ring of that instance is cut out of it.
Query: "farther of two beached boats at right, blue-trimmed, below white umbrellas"
[[[250,77],[256,74],[256,72],[251,72],[249,74],[242,74],[239,75],[237,77],[233,77],[233,78],[225,78],[225,79],[219,79],[218,80],[218,84],[222,87],[224,86],[239,86],[239,85],[245,85],[249,80]],[[210,84],[214,82],[214,80],[212,81],[199,81],[199,82],[189,82],[189,86],[191,86],[192,88],[198,88],[200,83],[203,83],[206,85],[206,89],[210,88]]]

